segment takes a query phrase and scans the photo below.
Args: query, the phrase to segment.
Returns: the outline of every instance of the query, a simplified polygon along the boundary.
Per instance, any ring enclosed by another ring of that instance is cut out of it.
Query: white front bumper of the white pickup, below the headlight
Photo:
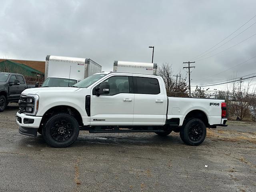
[[[16,122],[21,127],[27,127],[27,128],[39,128],[42,117],[39,116],[29,116],[24,113],[16,113],[17,119]],[[24,121],[25,119],[25,121]],[[24,123],[25,122],[25,123]]]

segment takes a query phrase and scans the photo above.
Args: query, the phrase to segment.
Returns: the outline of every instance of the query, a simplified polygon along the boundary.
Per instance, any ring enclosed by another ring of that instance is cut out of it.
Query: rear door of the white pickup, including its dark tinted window
[[[166,117],[166,96],[157,76],[133,76],[134,125],[163,125]]]

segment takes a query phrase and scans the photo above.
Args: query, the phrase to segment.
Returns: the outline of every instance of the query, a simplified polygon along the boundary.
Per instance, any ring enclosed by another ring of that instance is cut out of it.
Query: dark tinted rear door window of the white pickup
[[[134,89],[136,94],[159,94],[160,86],[156,78],[134,77],[137,86]]]

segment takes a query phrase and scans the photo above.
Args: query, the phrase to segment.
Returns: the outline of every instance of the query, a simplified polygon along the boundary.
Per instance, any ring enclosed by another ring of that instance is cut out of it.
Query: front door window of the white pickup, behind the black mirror
[[[118,93],[129,93],[129,77],[128,76],[112,76],[105,80],[109,84],[109,94],[103,95],[116,95]]]

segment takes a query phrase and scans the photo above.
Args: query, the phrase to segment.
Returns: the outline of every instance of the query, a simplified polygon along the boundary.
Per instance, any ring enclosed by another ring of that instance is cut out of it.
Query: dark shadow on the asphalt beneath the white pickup
[[[42,148],[47,148],[48,144],[44,141],[42,135],[38,135],[37,137],[26,137],[20,140],[21,146],[33,146],[33,150],[38,148],[41,150]],[[106,134],[81,134],[78,136],[77,140],[68,148],[88,148],[88,147],[116,147],[116,146],[125,146],[126,148],[133,148],[134,146],[149,146],[149,147],[172,147],[172,146],[187,146],[182,142],[180,136],[178,134],[170,134],[166,137],[161,137],[154,134],[141,134],[138,135],[130,135],[127,136],[122,134],[116,134],[116,136],[108,136]],[[208,145],[208,141],[204,141],[202,145]],[[190,146],[188,146],[190,147]]]

